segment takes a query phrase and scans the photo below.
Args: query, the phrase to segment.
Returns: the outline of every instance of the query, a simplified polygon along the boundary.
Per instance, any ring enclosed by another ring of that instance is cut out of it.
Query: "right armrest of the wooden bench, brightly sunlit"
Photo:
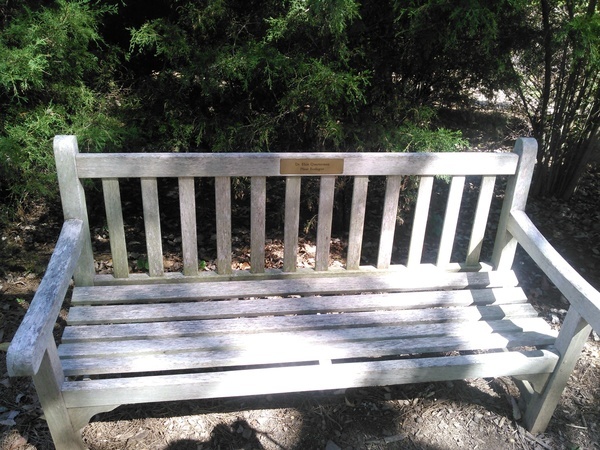
[[[579,315],[600,332],[600,292],[556,251],[524,211],[512,211],[508,231],[554,283]]]

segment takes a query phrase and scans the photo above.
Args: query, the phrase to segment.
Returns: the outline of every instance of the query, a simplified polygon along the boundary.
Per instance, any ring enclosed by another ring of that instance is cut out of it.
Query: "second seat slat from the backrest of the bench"
[[[527,297],[521,288],[481,289],[473,291],[426,291],[294,299],[73,306],[71,307],[68,321],[70,325],[79,325],[291,314],[324,314],[331,312],[425,310],[425,308],[509,304],[528,305]]]

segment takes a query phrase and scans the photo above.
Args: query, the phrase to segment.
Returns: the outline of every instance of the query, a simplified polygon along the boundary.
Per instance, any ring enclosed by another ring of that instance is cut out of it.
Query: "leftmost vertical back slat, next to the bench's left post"
[[[104,178],[102,180],[102,191],[104,192],[104,208],[110,235],[113,275],[115,278],[127,278],[129,276],[129,264],[127,262],[127,245],[125,244],[119,180],[117,178]]]

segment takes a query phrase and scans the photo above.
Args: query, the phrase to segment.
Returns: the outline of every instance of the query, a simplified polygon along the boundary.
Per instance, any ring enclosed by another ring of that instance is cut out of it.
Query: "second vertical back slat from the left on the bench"
[[[148,251],[148,271],[151,277],[164,275],[160,212],[158,209],[158,184],[156,178],[142,178],[142,206]]]

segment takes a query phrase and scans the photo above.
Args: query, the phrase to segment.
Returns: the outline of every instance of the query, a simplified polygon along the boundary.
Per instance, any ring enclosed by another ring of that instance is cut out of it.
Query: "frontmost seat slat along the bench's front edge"
[[[549,351],[460,355],[396,361],[246,369],[101,380],[66,381],[68,407],[386,386],[549,373],[558,357]],[[150,394],[151,393],[151,394]]]

